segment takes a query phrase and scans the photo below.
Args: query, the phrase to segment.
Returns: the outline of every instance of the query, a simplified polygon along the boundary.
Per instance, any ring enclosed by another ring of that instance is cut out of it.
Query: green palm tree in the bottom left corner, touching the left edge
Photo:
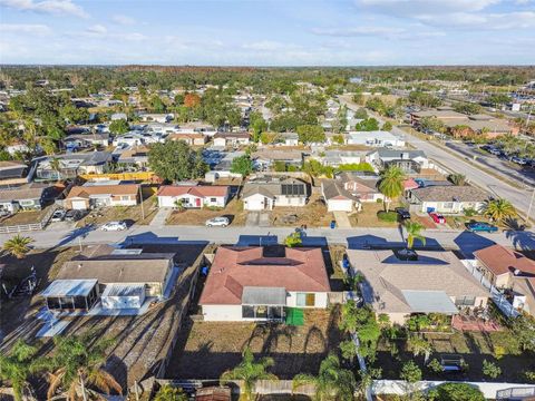
[[[37,351],[36,346],[17,340],[9,355],[0,354],[0,378],[11,383],[16,401],[22,400],[25,390],[29,389],[28,376],[38,370]]]

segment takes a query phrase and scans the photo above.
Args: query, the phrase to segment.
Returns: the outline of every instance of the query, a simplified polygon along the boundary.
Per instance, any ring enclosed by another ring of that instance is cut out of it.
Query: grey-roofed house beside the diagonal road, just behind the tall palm
[[[429,160],[424,150],[380,148],[368,153],[366,162],[378,170],[397,166],[406,174],[417,174],[422,168],[429,168]]]

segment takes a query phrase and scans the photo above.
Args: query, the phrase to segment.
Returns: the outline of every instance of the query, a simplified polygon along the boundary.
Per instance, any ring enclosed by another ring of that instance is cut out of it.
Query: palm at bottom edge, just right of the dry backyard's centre
[[[312,384],[315,389],[314,400],[353,400],[357,381],[353,372],[340,366],[335,354],[329,354],[320,365],[317,376],[300,373],[293,378],[293,391],[302,385]]]

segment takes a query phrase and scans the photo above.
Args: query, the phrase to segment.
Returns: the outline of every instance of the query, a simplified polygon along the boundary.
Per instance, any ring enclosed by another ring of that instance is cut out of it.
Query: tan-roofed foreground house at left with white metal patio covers
[[[90,257],[81,254],[66,262],[41,292],[49,310],[87,312],[98,301],[105,310],[139,309],[146,299],[165,295],[175,254],[97,247],[106,252]]]

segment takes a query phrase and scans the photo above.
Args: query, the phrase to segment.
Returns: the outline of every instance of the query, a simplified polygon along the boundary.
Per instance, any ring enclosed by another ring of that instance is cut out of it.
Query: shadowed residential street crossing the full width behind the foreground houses
[[[204,226],[133,226],[124,232],[101,232],[93,227],[69,229],[50,226],[46,231],[27,233],[35,239],[36,247],[56,247],[79,244],[124,244],[130,243],[217,243],[239,245],[269,245],[281,243],[293,228],[282,227],[204,227]],[[0,244],[12,235],[1,234]],[[494,243],[535,250],[535,233],[506,232],[499,234],[473,234],[454,229],[427,229],[427,246],[458,248],[469,254]],[[402,246],[402,234],[398,228],[309,228],[304,245],[321,246],[341,244],[350,248],[368,245]]]

